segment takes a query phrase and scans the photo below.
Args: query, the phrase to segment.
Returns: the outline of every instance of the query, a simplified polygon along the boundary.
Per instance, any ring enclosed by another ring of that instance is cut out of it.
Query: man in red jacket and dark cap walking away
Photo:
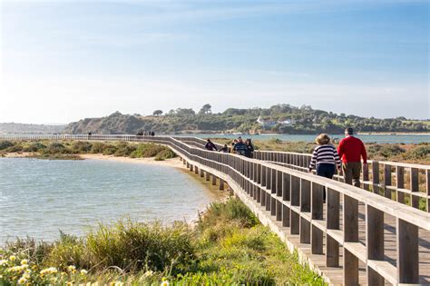
[[[349,127],[345,130],[345,137],[337,147],[340,159],[342,159],[342,171],[345,182],[360,187],[361,157],[363,163],[367,163],[365,144],[353,136],[354,130]]]

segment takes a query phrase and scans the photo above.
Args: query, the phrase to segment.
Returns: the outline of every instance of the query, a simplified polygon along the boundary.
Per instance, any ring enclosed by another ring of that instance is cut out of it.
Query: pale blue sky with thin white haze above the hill
[[[203,104],[430,118],[427,1],[0,1],[0,123]]]

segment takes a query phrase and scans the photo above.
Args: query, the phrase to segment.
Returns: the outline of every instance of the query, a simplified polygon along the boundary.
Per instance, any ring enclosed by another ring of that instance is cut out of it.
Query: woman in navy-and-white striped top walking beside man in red
[[[340,158],[335,146],[330,143],[330,137],[326,133],[319,134],[315,140],[318,144],[312,153],[309,164],[309,173],[312,169],[317,170],[318,176],[333,178],[335,169],[340,169]]]

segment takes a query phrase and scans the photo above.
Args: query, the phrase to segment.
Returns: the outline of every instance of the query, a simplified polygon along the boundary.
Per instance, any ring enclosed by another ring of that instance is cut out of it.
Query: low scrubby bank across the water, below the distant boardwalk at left
[[[39,159],[79,160],[79,154],[94,153],[118,157],[165,160],[176,156],[166,146],[153,143],[101,143],[85,141],[0,141],[0,156],[5,153],[31,153]]]

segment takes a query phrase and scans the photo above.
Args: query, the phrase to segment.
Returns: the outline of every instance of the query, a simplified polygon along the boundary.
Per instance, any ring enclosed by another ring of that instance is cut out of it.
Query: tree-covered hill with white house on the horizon
[[[420,132],[430,131],[430,121],[413,121],[405,117],[377,119],[278,104],[270,108],[235,109],[211,113],[205,104],[199,113],[178,108],[155,115],[112,113],[101,118],[85,118],[70,123],[64,133],[121,134],[154,131],[155,133],[343,133],[347,126],[359,132]]]

